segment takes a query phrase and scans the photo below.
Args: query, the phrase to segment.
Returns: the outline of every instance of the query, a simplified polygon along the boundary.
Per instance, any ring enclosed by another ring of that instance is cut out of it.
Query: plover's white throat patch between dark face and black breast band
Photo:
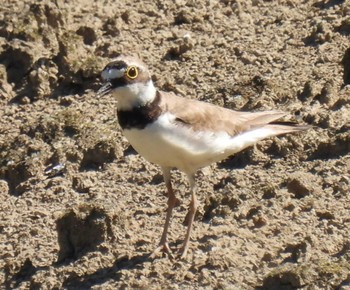
[[[156,96],[156,88],[152,80],[146,83],[134,83],[117,88],[113,91],[119,110],[131,110],[152,102]]]

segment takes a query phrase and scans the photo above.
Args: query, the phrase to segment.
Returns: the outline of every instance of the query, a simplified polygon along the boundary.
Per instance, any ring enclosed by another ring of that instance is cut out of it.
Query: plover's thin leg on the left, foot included
[[[154,252],[151,255],[152,258],[154,258],[161,251],[166,252],[167,254],[172,256],[172,252],[168,244],[167,234],[168,234],[168,228],[169,228],[173,208],[179,203],[179,200],[175,197],[173,187],[171,186],[170,169],[162,168],[162,170],[163,170],[164,182],[167,188],[168,208],[166,211],[166,218],[165,218],[162,237],[160,239],[159,246],[154,250]]]

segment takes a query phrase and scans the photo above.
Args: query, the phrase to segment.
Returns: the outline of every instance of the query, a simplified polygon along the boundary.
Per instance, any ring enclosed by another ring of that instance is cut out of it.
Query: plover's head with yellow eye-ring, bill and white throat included
[[[140,60],[130,56],[119,56],[112,60],[101,73],[105,82],[97,96],[111,93],[118,101],[118,109],[129,110],[142,106],[155,97],[151,75]]]

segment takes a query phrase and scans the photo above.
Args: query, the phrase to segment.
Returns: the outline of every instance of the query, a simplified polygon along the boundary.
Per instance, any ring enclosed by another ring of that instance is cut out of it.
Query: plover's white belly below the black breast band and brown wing
[[[124,130],[124,135],[148,161],[189,174],[274,135],[265,128],[234,137],[226,132],[194,132],[174,120],[175,116],[166,113],[142,130]]]

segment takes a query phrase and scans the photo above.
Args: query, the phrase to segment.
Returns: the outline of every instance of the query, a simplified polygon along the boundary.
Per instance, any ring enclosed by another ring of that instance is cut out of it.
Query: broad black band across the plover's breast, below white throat
[[[118,121],[122,129],[143,129],[158,119],[161,114],[160,94],[157,92],[154,100],[144,106],[131,110],[118,110]]]

